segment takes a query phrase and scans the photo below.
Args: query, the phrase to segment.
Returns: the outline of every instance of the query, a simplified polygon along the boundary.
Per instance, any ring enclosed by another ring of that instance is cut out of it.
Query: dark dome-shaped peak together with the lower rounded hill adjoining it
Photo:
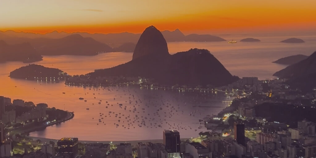
[[[205,49],[191,49],[170,55],[163,34],[150,26],[140,36],[133,59],[113,68],[96,70],[90,77],[145,77],[167,85],[222,86],[239,78]]]

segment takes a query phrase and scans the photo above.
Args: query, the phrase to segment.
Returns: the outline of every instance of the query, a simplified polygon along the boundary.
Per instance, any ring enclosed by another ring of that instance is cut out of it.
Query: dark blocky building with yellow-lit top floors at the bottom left
[[[78,157],[78,138],[61,138],[57,141],[58,155]]]

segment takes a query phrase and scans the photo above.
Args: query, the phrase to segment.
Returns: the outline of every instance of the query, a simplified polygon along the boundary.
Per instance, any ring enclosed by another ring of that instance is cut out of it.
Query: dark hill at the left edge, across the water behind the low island
[[[0,62],[22,61],[31,63],[42,60],[42,56],[29,43],[9,45],[0,40]]]

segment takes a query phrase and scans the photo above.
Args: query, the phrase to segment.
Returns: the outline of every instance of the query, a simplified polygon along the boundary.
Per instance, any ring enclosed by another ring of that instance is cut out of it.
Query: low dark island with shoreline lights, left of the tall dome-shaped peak
[[[68,76],[62,70],[55,68],[47,68],[42,65],[29,64],[10,72],[11,78],[21,78],[27,80],[44,80],[44,79],[64,79]]]

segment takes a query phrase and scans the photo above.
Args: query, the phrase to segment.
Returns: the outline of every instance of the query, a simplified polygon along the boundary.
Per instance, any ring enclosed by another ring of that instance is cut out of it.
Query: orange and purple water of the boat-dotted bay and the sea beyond
[[[249,36],[223,35],[221,37],[227,40],[234,39],[239,41]],[[258,38],[261,42],[237,42],[236,44],[228,44],[227,42],[172,42],[168,43],[168,49],[171,54],[187,51],[190,48],[208,49],[232,75],[239,77],[257,76],[260,79],[273,78],[272,74],[274,72],[286,67],[286,65],[271,63],[272,61],[296,54],[310,55],[316,51],[316,38],[312,36],[297,37],[305,40],[305,43],[299,44],[280,43],[279,41],[290,38],[285,36],[253,38]],[[132,53],[123,52],[104,53],[88,57],[44,56],[43,61],[36,62],[35,64],[58,68],[70,75],[80,75],[92,72],[95,69],[109,68],[123,64],[130,61],[131,58]],[[35,104],[45,102],[49,107],[75,112],[74,119],[70,121],[61,125],[47,127],[45,131],[30,133],[31,136],[35,137],[55,139],[60,137],[79,137],[81,140],[110,141],[161,139],[162,130],[169,127],[172,129],[180,128],[179,131],[182,138],[196,137],[198,132],[205,131],[205,129],[197,128],[199,126],[198,119],[202,119],[208,114],[217,114],[222,108],[228,105],[228,103],[220,101],[232,99],[223,97],[221,94],[197,96],[197,94],[175,91],[140,89],[136,86],[105,87],[104,89],[91,88],[90,90],[89,88],[66,86],[63,82],[46,83],[44,81],[25,81],[10,79],[8,77],[10,71],[24,65],[27,64],[21,62],[0,64],[0,79],[3,82],[0,85],[2,95],[10,97],[12,100],[23,99],[25,101],[33,101]],[[62,92],[65,92],[65,94],[62,94]],[[87,102],[79,100],[79,97],[84,98]],[[94,97],[96,98],[94,99]],[[196,102],[197,98],[202,101]],[[129,103],[130,100],[131,104]],[[98,102],[101,102],[101,104],[98,104]],[[118,104],[120,103],[123,105],[119,106]],[[108,106],[108,108],[105,106]],[[125,106],[126,110],[124,110]],[[86,108],[89,108],[89,110],[86,110]],[[136,111],[134,111],[134,108],[136,108]],[[110,111],[111,113],[109,113]],[[100,116],[99,113],[101,115],[103,113],[103,115]],[[115,117],[115,114],[118,114],[118,117]],[[120,122],[118,122],[119,115],[121,117]],[[139,119],[136,119],[135,115],[138,115]],[[164,116],[166,116],[166,120],[162,119]],[[99,123],[99,119],[102,122]],[[145,121],[145,125],[139,127],[138,125],[142,122],[142,119]],[[136,123],[132,123],[133,125],[131,125],[132,121],[136,121]],[[140,122],[138,123],[137,121]],[[119,124],[119,126],[116,127],[114,123]],[[162,127],[157,127],[158,125]],[[192,130],[190,127],[192,127]],[[194,129],[198,130],[194,131]]]

